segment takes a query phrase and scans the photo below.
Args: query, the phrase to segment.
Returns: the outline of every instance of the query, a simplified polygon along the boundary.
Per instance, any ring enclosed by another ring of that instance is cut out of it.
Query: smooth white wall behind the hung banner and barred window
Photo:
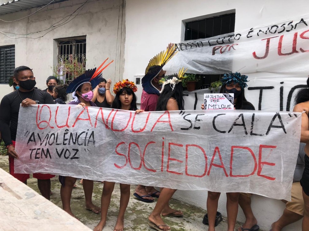
[[[183,37],[184,19],[235,9],[235,31],[238,31],[306,15],[308,7],[307,0],[126,0],[124,77],[135,81],[134,76],[145,73],[150,58],[164,50],[169,42],[180,42]],[[138,87],[140,97],[142,85]],[[177,191],[175,197],[206,209],[207,191]],[[269,230],[270,225],[281,216],[284,204],[278,200],[255,195],[252,198],[252,208],[260,227]],[[225,195],[219,200],[218,211],[226,216]],[[238,220],[244,221],[242,212],[239,212]],[[301,230],[301,222],[284,230]]]

